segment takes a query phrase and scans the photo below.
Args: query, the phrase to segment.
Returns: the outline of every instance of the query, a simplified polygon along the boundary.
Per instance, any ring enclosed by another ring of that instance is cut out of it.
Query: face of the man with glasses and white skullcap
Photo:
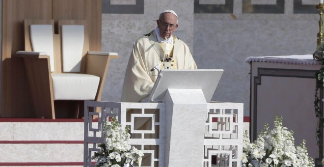
[[[177,16],[173,13],[163,13],[160,20],[157,20],[160,36],[169,38],[171,34],[178,28]]]

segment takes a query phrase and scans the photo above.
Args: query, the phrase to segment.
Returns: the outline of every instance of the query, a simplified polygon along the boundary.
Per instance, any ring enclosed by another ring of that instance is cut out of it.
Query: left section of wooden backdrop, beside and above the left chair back
[[[52,0],[2,0],[1,117],[35,117],[22,58],[24,19],[51,19]]]

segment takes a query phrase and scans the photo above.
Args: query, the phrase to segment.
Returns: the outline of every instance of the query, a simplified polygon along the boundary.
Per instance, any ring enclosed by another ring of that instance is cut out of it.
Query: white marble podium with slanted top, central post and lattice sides
[[[130,144],[144,153],[142,167],[241,166],[243,104],[210,103],[222,70],[162,74],[150,96],[153,101],[161,98],[160,103],[85,102],[84,166],[93,166],[91,155],[100,151],[96,143],[101,142],[102,123],[110,116],[130,127],[134,137]],[[91,119],[93,115],[98,120]],[[139,117],[149,119],[146,123],[151,128],[136,129]]]

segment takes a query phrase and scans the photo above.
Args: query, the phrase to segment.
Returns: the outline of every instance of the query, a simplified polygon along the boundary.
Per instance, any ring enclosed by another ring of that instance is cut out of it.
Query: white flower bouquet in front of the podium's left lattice
[[[128,128],[123,129],[116,118],[111,118],[111,124],[104,122],[104,142],[98,144],[101,151],[94,153],[93,160],[96,160],[97,167],[133,167],[141,166],[141,151],[128,144],[130,134]]]

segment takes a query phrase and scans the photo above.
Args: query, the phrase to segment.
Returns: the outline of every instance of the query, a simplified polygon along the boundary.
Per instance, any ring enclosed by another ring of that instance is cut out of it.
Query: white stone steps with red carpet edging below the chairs
[[[83,121],[0,118],[0,166],[83,167]],[[243,130],[249,130],[249,117]]]

